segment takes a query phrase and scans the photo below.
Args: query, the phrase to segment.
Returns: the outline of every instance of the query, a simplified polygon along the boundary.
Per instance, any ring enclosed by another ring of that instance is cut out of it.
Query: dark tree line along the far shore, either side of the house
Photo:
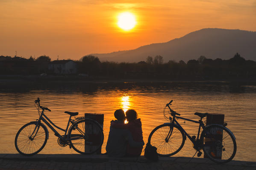
[[[0,74],[17,74],[15,69],[6,67],[6,61],[15,60],[15,57],[0,56]],[[49,56],[41,56],[37,59],[20,59],[15,63],[26,65],[24,74],[41,74],[50,72],[47,64],[51,61]],[[110,78],[143,78],[143,79],[227,79],[227,78],[256,78],[256,62],[246,60],[236,53],[231,59],[209,59],[200,56],[198,59],[191,59],[188,62],[180,60],[163,61],[163,57],[148,56],[145,61],[137,63],[129,62],[101,62],[98,57],[84,56],[77,63],[79,73],[88,74],[89,77],[110,77]],[[29,64],[28,64],[29,63]],[[30,69],[30,70],[29,70]]]

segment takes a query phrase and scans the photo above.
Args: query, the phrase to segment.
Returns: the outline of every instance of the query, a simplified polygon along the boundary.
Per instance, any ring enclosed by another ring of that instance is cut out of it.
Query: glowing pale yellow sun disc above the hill
[[[136,25],[135,16],[130,12],[123,12],[118,15],[118,26],[124,31],[129,31]]]

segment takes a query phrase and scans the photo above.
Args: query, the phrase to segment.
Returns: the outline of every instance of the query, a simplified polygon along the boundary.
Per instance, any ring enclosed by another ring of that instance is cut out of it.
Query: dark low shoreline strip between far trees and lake
[[[77,75],[49,75],[49,76],[39,76],[39,75],[0,75],[1,82],[72,82],[72,83],[232,83],[232,82],[250,82],[256,84],[255,79],[247,78],[228,78],[228,79],[203,79],[203,78],[115,78],[115,77],[79,77]]]

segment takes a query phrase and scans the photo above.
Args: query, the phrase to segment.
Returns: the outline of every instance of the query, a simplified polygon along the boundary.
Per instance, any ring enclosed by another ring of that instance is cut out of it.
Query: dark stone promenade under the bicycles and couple
[[[0,154],[0,170],[256,170],[256,162],[215,164],[209,159],[166,157],[158,162],[139,158],[109,158],[80,154]]]

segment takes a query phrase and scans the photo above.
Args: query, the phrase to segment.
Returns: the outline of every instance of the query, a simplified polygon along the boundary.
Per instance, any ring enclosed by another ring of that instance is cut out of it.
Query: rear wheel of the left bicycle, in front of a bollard
[[[80,120],[70,127],[68,138],[71,147],[81,154],[91,154],[100,149],[104,134],[100,124],[94,120]]]

